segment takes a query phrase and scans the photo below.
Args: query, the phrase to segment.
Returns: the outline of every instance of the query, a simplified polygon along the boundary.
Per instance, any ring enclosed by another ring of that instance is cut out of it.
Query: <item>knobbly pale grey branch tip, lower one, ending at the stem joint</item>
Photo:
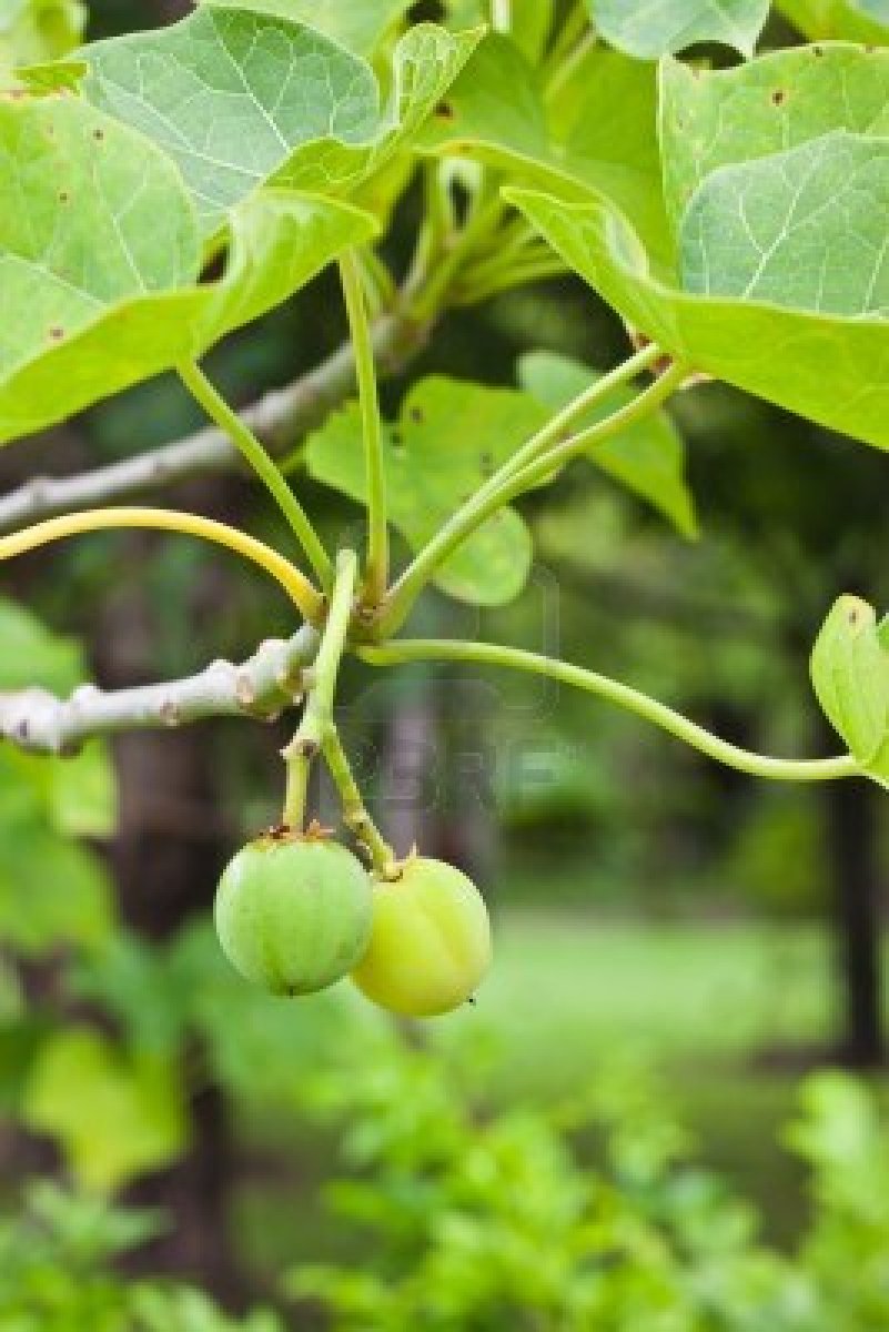
[[[302,695],[318,634],[303,626],[270,638],[246,661],[217,661],[196,675],[105,693],[83,685],[69,698],[43,689],[0,694],[0,737],[32,754],[69,755],[97,735],[182,726],[208,717],[271,722]]]

